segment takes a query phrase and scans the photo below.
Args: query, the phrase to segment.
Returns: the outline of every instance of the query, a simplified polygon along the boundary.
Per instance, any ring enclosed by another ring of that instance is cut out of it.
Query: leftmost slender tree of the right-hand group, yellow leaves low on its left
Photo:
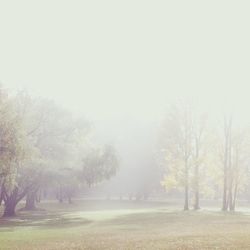
[[[189,209],[192,129],[190,105],[172,106],[163,124],[161,145],[164,148],[167,174],[174,176],[184,186],[184,210]]]

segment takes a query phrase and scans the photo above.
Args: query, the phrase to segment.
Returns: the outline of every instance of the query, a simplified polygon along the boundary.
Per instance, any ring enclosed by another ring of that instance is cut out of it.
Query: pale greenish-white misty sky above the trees
[[[248,109],[249,1],[0,0],[0,81],[93,120],[189,96]]]

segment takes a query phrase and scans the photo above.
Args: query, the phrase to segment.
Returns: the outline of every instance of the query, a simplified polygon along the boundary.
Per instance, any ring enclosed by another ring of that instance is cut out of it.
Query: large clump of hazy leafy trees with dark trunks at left
[[[118,159],[111,145],[95,143],[91,123],[50,100],[25,91],[9,96],[0,89],[0,203],[3,216],[17,204],[35,209],[41,190],[62,202],[84,186],[116,174]]]

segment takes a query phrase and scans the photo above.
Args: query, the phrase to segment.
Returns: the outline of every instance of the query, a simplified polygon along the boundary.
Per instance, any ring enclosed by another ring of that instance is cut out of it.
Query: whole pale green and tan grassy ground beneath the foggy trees
[[[0,220],[0,249],[250,249],[250,213],[77,201]],[[250,210],[249,210],[250,211]]]

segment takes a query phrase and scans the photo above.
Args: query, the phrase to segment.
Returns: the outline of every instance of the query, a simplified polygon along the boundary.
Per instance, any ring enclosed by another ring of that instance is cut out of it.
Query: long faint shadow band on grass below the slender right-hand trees
[[[192,227],[200,225],[248,225],[249,215],[242,213],[197,212],[197,211],[148,211],[119,215],[101,222],[101,226],[117,226],[121,229],[129,227],[157,228],[157,227]]]

